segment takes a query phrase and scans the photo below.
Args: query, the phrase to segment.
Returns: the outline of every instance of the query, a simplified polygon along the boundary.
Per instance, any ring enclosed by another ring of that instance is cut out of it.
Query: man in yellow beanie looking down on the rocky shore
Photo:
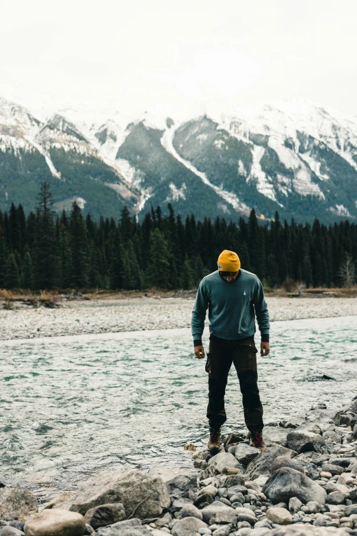
[[[261,356],[269,354],[269,313],[263,285],[256,275],[241,269],[237,253],[224,250],[218,257],[218,270],[202,279],[192,310],[192,335],[195,355],[203,359],[202,333],[209,309],[209,419],[211,454],[220,450],[221,426],[226,422],[224,394],[228,372],[237,370],[246,426],[251,444],[265,450],[263,406],[259,397],[254,344],[255,316],[261,332]]]

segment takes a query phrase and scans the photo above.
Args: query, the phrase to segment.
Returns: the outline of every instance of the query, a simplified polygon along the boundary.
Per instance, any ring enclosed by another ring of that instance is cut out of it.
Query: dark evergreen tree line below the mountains
[[[224,249],[237,252],[241,267],[271,288],[352,285],[357,226],[281,222],[278,213],[262,225],[254,209],[238,225],[194,215],[183,220],[170,204],[167,214],[152,207],[141,222],[127,208],[119,221],[94,221],[77,203],[69,214],[55,214],[44,183],[36,212],[26,215],[14,204],[0,212],[0,288],[191,289],[217,269]]]

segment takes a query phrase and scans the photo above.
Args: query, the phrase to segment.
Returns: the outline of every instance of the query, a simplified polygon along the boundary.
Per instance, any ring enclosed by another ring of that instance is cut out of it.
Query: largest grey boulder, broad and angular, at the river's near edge
[[[170,506],[168,488],[159,476],[136,470],[106,471],[86,483],[72,499],[70,511],[85,514],[91,508],[121,502],[127,517],[155,518]]]

